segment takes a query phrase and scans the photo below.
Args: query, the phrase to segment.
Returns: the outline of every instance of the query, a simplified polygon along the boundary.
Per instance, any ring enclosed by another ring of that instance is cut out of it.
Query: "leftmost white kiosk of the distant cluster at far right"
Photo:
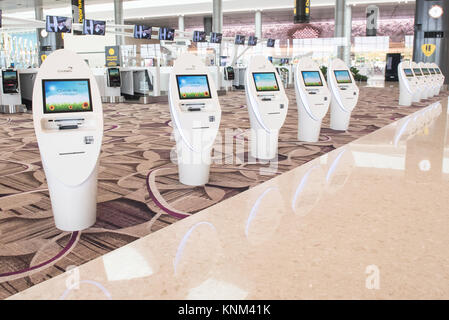
[[[398,65],[399,77],[399,105],[411,106],[415,100],[419,101],[419,81],[415,77],[409,61]],[[418,93],[418,94],[417,94]],[[416,102],[417,102],[416,101]]]

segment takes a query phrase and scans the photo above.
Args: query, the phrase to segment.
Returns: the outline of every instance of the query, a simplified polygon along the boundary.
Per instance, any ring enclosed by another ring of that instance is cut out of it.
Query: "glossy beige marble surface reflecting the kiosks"
[[[449,299],[447,101],[12,299]]]

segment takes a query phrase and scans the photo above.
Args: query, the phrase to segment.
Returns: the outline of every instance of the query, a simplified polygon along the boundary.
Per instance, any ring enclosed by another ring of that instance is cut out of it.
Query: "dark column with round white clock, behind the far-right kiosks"
[[[444,13],[440,18],[435,19],[429,15],[429,9],[434,5],[443,8]],[[430,57],[422,52],[423,44],[436,45],[436,50]],[[445,83],[449,83],[449,1],[416,0],[413,60],[435,62],[446,77]]]

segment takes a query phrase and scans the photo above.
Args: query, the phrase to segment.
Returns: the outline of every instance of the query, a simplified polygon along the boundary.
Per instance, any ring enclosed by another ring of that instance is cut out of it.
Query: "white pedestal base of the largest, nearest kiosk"
[[[63,231],[87,229],[97,220],[98,163],[79,186],[63,184],[44,165],[56,227]]]

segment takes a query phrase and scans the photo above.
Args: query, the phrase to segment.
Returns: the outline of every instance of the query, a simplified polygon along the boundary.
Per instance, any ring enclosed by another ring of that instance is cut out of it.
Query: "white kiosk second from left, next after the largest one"
[[[170,114],[176,140],[179,181],[209,181],[211,151],[221,121],[217,90],[200,57],[180,56],[170,75]]]

